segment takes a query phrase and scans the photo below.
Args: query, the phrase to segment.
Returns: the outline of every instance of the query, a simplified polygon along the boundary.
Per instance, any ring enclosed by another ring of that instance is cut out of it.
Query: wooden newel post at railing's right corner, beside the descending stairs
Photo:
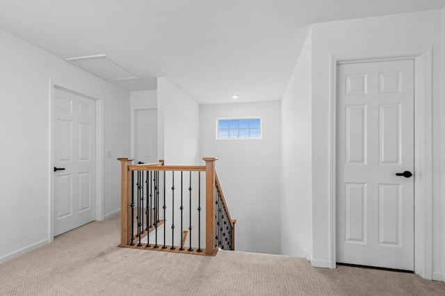
[[[215,243],[215,161],[217,157],[204,157],[206,162],[206,254],[216,251]]]

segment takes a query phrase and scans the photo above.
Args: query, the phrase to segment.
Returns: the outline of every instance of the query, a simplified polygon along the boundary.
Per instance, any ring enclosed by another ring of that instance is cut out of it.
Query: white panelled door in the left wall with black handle
[[[56,236],[95,220],[95,102],[57,88],[54,98]]]

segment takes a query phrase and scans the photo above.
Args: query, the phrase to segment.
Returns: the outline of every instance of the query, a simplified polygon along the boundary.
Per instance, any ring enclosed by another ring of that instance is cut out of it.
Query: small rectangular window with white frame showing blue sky
[[[261,139],[261,117],[216,119],[216,139]]]

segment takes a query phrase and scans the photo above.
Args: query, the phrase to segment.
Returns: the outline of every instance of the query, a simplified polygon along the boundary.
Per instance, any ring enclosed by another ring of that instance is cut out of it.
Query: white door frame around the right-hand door
[[[330,56],[330,268],[336,267],[337,65],[414,60],[414,272],[432,279],[432,48]]]

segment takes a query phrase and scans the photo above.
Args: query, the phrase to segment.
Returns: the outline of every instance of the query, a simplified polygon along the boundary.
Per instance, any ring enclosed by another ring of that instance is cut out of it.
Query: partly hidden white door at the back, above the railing
[[[136,110],[136,162],[158,162],[157,110]]]

